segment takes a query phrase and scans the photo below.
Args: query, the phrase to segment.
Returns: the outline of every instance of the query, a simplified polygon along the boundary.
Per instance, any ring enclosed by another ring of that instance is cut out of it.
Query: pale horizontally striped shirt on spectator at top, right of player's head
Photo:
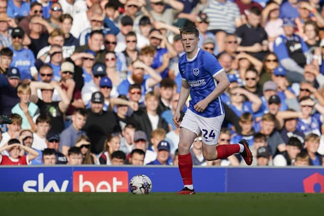
[[[224,3],[216,0],[210,1],[204,13],[207,14],[210,20],[208,30],[221,29],[228,33],[234,33],[235,19],[240,18],[237,5],[229,0]]]

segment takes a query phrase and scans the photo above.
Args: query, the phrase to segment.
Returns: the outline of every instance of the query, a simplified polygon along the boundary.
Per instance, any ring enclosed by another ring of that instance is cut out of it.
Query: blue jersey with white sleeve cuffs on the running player
[[[214,77],[224,71],[215,56],[198,49],[193,59],[187,59],[187,54],[180,57],[179,72],[190,88],[189,109],[203,117],[216,117],[224,113],[221,98],[212,101],[203,112],[197,112],[193,107],[199,101],[211,94],[217,86]]]

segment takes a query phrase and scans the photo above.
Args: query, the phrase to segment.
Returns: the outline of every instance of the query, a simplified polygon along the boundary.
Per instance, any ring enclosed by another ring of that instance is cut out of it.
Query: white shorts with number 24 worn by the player
[[[216,145],[218,143],[218,137],[224,117],[225,114],[207,118],[197,115],[196,113],[187,109],[187,112],[181,121],[180,127],[184,127],[189,131],[192,131],[197,136],[201,132],[203,143],[206,145]]]

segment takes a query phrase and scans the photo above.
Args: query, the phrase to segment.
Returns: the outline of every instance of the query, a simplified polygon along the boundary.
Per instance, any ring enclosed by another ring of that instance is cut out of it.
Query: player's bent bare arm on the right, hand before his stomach
[[[194,105],[194,109],[197,112],[203,112],[209,103],[214,101],[217,97],[219,97],[228,87],[229,87],[229,80],[227,75],[223,69],[219,72],[215,73],[214,79],[218,82],[216,88],[211,92],[205,99],[199,101]]]

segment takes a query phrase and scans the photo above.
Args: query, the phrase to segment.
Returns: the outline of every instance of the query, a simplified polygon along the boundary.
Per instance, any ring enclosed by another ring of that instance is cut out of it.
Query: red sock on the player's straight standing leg
[[[192,160],[191,155],[178,155],[179,170],[182,177],[183,185],[192,185]]]

